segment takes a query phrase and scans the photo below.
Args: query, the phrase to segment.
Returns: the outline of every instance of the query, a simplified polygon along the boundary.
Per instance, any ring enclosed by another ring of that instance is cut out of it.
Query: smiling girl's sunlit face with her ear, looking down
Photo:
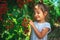
[[[46,13],[43,12],[38,6],[35,6],[35,14],[34,17],[37,21],[45,20]]]

